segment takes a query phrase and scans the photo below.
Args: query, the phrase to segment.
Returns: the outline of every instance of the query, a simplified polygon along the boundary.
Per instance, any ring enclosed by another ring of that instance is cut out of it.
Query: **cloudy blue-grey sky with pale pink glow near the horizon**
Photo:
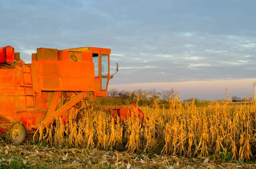
[[[0,1],[0,46],[30,62],[37,48],[111,49],[108,89],[250,97],[256,80],[255,0]]]

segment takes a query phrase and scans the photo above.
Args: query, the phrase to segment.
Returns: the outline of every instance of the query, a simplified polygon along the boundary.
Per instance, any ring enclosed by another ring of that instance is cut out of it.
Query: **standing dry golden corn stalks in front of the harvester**
[[[256,101],[230,108],[227,99],[196,107],[194,100],[187,104],[177,98],[170,100],[170,109],[160,107],[157,100],[154,108],[145,107],[149,119],[143,123],[139,118],[121,122],[103,110],[91,116],[97,106],[89,106],[66,125],[58,118],[46,132],[39,128],[35,135],[50,146],[159,152],[185,158],[221,154],[230,155],[229,160],[254,158]]]

